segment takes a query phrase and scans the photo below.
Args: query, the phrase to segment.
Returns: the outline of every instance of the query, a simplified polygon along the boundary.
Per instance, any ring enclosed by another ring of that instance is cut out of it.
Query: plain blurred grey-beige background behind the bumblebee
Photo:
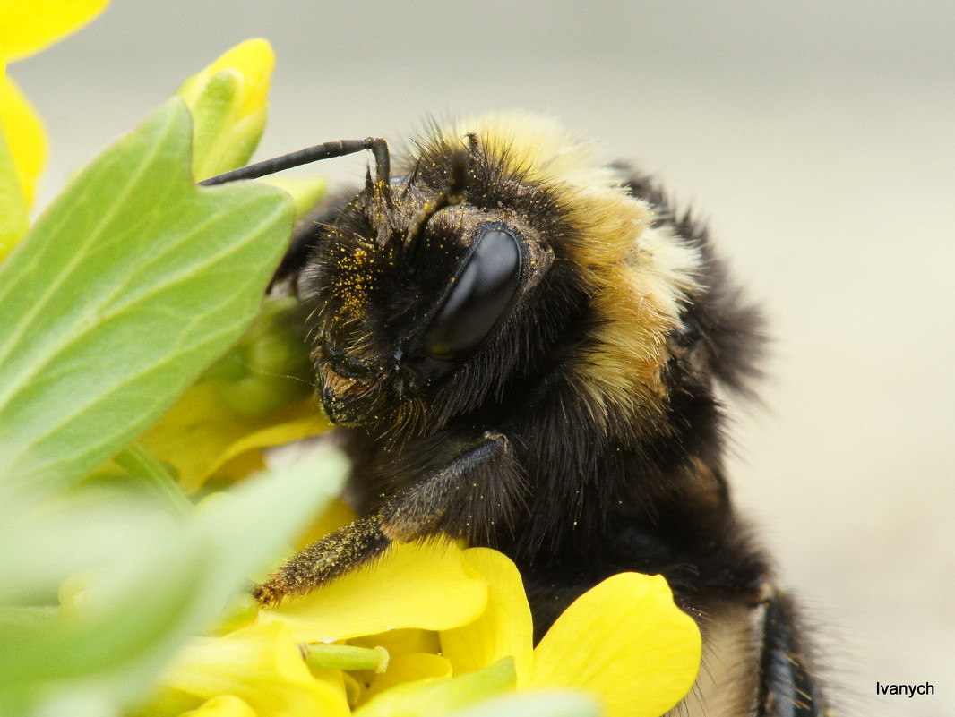
[[[739,502],[846,711],[955,714],[955,3],[115,0],[9,68],[49,126],[41,201],[253,36],[278,55],[258,158],[527,108],[707,218],[775,337],[766,407],[735,410]]]

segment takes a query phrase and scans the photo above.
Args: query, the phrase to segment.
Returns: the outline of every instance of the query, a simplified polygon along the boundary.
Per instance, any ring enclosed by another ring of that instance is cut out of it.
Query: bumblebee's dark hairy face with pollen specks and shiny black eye
[[[388,187],[367,181],[312,258],[312,355],[340,425],[434,429],[522,360],[501,348],[520,343],[552,227],[497,199],[520,178],[492,166],[476,137],[442,158],[427,169],[417,159]]]

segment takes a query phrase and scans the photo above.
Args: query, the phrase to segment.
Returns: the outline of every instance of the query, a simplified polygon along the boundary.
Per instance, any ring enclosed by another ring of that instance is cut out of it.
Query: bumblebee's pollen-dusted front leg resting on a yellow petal
[[[501,433],[485,432],[387,498],[371,516],[288,559],[253,595],[260,604],[275,607],[376,559],[395,540],[444,534],[487,544],[501,523],[510,525],[522,494],[522,472],[510,442]]]

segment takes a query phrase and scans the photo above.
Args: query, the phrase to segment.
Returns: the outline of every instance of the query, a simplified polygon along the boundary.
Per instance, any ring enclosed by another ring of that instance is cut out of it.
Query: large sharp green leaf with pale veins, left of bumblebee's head
[[[97,158],[0,266],[0,479],[74,483],[143,432],[258,311],[286,195],[189,175],[173,99]]]

